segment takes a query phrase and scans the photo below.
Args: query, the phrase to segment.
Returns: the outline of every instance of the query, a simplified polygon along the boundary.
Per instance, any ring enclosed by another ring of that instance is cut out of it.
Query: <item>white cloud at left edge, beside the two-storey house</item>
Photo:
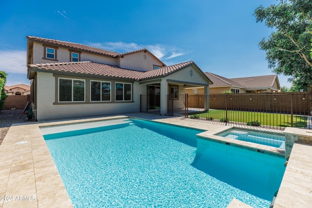
[[[0,51],[0,71],[27,74],[26,51]]]

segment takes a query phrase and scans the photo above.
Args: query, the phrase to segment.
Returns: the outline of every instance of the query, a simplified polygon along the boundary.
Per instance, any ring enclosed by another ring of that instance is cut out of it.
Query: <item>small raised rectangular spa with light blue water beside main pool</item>
[[[285,150],[285,136],[272,133],[255,132],[250,130],[231,129],[217,134],[230,139],[253,142],[257,144],[268,145]]]

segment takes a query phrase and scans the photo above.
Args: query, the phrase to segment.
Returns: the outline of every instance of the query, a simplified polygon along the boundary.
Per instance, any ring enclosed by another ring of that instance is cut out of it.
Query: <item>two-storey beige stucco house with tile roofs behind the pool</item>
[[[120,54],[33,36],[27,37],[27,68],[38,120],[140,112],[141,103],[167,114],[167,95],[177,99],[186,87],[209,95],[212,83],[193,61],[166,66],[147,49]],[[149,100],[154,95],[160,101]]]

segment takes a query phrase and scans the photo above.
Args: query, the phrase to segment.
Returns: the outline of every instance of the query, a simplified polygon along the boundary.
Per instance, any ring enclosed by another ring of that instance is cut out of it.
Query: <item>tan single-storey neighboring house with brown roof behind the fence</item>
[[[219,94],[222,91],[232,91],[233,93],[263,93],[279,92],[280,85],[277,75],[251,76],[241,78],[225,78],[210,72],[205,75],[213,82],[209,85],[210,94]],[[188,88],[186,93],[203,94],[202,88]]]

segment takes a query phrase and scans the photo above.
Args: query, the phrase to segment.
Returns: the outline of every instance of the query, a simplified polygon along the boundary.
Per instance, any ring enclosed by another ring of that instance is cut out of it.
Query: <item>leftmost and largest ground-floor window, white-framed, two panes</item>
[[[59,102],[84,102],[85,80],[59,78]]]

